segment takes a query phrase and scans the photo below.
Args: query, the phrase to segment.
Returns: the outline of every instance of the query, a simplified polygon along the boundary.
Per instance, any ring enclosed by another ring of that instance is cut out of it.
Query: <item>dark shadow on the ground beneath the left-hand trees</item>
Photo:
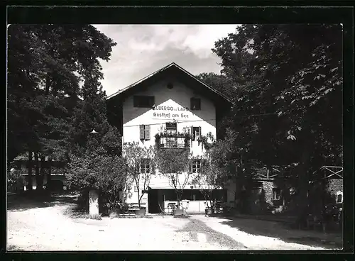
[[[7,210],[10,211],[47,208],[61,204],[77,204],[77,195],[25,192],[22,194],[8,194],[7,196]]]

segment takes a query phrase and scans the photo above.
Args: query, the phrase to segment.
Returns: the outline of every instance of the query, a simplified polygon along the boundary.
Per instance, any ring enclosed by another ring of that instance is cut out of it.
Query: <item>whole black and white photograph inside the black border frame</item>
[[[9,24],[7,251],[341,250],[343,26]]]

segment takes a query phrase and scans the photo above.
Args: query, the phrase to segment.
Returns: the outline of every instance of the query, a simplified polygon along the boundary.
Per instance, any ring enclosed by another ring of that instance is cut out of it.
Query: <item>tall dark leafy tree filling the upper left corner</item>
[[[8,32],[8,160],[26,150],[62,157],[84,95],[80,82],[102,79],[99,59],[108,61],[116,43],[91,25],[11,25]]]

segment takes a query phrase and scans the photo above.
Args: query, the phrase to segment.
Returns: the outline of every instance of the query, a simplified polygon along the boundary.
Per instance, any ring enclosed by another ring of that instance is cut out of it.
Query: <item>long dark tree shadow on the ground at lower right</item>
[[[299,243],[321,248],[343,248],[342,234],[323,234],[318,231],[300,231],[291,228],[290,223],[280,221],[262,221],[251,218],[234,218],[217,216],[217,218],[228,219],[222,221],[224,225],[238,228],[253,235],[263,235],[271,238],[279,238],[287,243]]]

